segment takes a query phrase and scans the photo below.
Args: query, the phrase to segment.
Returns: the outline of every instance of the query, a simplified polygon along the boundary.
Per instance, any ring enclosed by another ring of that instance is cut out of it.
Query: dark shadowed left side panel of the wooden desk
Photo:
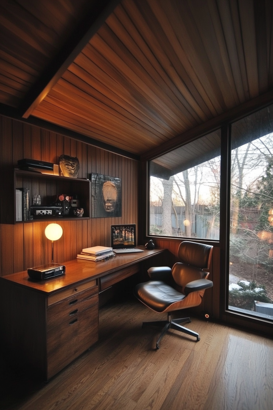
[[[11,360],[45,375],[46,326],[45,296],[15,285],[1,282],[1,342]]]

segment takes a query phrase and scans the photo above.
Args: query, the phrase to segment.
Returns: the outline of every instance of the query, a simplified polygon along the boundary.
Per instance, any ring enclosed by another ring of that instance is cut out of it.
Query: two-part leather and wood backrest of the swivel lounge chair
[[[213,246],[184,241],[179,245],[178,257],[182,261],[174,264],[171,274],[176,285],[184,292],[184,287],[192,280],[208,276],[202,269],[208,269],[212,257]]]

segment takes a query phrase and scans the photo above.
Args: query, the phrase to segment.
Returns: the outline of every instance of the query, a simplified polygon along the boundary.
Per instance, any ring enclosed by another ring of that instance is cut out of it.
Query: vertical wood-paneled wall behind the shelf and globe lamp
[[[138,224],[139,164],[111,152],[76,141],[65,135],[0,117],[0,166],[16,166],[22,158],[59,163],[61,154],[79,158],[79,178],[102,173],[122,180],[122,216],[89,220],[58,221],[63,236],[54,243],[55,262],[74,259],[82,248],[110,246],[112,223]],[[2,192],[1,195],[5,195]],[[7,210],[7,212],[9,212]],[[51,242],[44,235],[47,222],[0,225],[0,275],[23,271],[31,266],[50,262]]]

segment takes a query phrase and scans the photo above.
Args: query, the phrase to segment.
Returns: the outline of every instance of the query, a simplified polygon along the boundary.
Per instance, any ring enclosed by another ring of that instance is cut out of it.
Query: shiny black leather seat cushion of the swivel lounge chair
[[[169,305],[182,301],[186,296],[161,280],[149,280],[135,287],[135,296],[156,312],[163,312]]]

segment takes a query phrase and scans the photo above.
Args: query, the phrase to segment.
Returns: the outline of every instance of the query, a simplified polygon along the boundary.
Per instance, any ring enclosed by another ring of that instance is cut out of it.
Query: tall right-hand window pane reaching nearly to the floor
[[[273,319],[273,106],[232,124],[230,310]]]

